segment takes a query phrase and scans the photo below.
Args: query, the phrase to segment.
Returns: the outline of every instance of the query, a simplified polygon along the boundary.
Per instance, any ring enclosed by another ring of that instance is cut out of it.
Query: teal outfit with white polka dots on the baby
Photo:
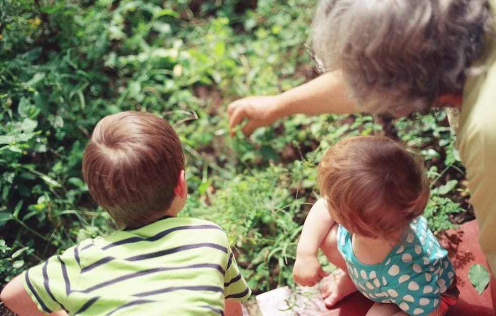
[[[338,228],[338,250],[358,290],[375,302],[394,303],[408,315],[427,315],[440,304],[454,278],[454,268],[427,220],[410,223],[402,242],[380,264],[360,263],[351,247],[351,234]]]

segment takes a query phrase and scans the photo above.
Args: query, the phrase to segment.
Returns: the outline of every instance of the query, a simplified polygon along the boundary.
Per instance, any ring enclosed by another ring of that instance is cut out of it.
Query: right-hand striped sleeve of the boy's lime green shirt
[[[241,275],[230,247],[228,247],[227,255],[228,262],[224,275],[225,297],[236,301],[244,301],[250,297],[252,291]]]

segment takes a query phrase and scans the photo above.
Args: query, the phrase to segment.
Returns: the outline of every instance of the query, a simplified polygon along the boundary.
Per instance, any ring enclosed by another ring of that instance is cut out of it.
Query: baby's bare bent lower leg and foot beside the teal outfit
[[[338,267],[336,271],[320,282],[320,293],[327,307],[334,306],[346,296],[357,291],[347,273],[346,262],[338,251],[337,233],[338,224],[334,224],[320,245],[327,260]]]

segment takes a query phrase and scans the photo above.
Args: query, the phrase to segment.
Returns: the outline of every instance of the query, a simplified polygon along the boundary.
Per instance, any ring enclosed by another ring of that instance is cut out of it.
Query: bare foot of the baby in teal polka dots
[[[332,307],[337,302],[358,291],[348,273],[342,269],[333,271],[320,282],[320,294],[325,306]]]

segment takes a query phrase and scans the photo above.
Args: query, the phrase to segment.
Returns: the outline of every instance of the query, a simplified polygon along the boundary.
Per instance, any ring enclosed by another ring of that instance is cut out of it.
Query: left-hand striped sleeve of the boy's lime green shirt
[[[75,249],[69,248],[63,255],[52,256],[24,272],[24,289],[39,310],[48,313],[69,307],[71,280],[78,278],[80,270]]]

